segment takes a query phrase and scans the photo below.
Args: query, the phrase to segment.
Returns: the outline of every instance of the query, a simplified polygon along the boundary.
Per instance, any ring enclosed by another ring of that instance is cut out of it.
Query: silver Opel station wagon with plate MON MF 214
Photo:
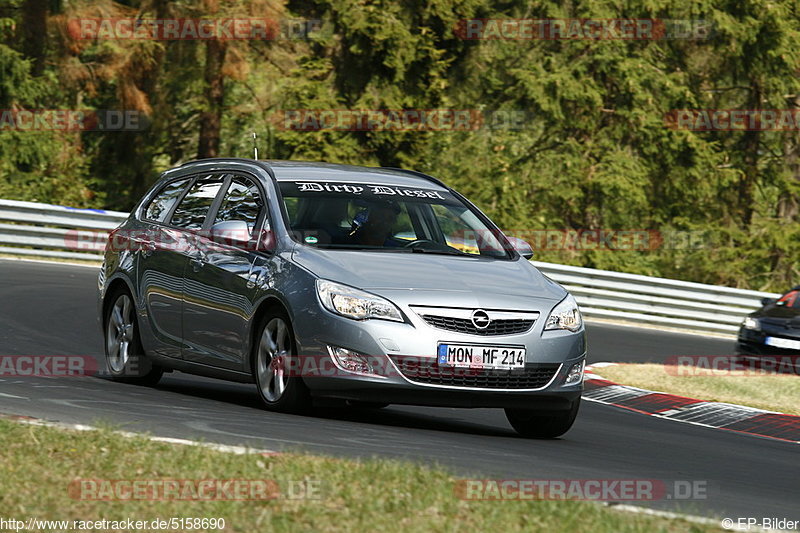
[[[578,412],[585,331],[531,255],[419,172],[194,161],[109,236],[108,372],[255,382],[288,412],[326,399],[503,408],[519,434],[557,437]]]

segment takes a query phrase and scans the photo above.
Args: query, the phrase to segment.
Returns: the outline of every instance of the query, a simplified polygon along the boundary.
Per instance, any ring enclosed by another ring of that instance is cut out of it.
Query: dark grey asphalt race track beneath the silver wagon
[[[0,260],[0,355],[100,354],[95,292],[95,269]],[[732,350],[733,341],[725,339],[589,326],[590,362],[658,362]],[[435,462],[480,478],[700,481],[706,499],[646,505],[734,520],[800,520],[797,444],[590,402],[573,429],[553,441],[518,438],[502,411],[490,409],[270,413],[252,386],[180,373],[167,374],[153,389],[99,378],[0,378],[0,412],[279,451]]]

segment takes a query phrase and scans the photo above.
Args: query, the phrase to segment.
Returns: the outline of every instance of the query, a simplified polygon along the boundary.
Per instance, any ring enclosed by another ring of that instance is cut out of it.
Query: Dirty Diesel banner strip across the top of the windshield
[[[437,204],[460,204],[448,191],[402,187],[378,183],[343,183],[327,181],[291,181],[280,184],[284,196],[342,196],[365,200],[424,201]]]

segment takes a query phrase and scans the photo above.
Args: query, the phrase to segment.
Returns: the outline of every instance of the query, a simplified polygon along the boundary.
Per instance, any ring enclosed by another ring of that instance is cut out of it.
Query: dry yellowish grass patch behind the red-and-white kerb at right
[[[693,370],[692,375],[680,375],[674,367],[634,363],[602,367],[594,373],[632,387],[800,415],[800,377],[794,374]]]

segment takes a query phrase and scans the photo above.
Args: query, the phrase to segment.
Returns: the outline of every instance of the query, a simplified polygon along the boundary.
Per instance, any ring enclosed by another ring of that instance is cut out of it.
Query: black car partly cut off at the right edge
[[[736,353],[744,357],[800,357],[800,285],[745,317],[739,328]],[[795,364],[798,359],[795,358]]]

